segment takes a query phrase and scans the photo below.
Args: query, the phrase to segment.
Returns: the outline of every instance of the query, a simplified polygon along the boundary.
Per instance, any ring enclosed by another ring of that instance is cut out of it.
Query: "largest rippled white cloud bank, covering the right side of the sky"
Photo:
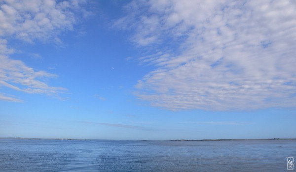
[[[171,110],[296,106],[296,2],[132,1],[114,23],[153,46],[137,96]]]

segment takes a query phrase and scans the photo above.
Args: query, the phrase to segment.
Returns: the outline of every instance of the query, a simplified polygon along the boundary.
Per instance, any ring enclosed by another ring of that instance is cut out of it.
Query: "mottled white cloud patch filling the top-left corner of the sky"
[[[59,40],[57,35],[60,31],[73,29],[77,21],[75,10],[85,13],[79,3],[76,0],[3,0],[0,5],[0,36],[13,35],[27,42],[34,39]]]

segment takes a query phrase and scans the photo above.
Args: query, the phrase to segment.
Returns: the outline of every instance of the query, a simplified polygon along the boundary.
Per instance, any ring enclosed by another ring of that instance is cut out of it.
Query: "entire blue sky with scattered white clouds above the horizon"
[[[0,0],[0,137],[296,138],[295,0]]]

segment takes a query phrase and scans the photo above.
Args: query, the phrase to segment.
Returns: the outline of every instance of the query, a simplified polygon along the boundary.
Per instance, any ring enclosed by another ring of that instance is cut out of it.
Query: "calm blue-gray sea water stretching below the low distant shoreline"
[[[296,140],[0,139],[0,172],[284,172]]]

